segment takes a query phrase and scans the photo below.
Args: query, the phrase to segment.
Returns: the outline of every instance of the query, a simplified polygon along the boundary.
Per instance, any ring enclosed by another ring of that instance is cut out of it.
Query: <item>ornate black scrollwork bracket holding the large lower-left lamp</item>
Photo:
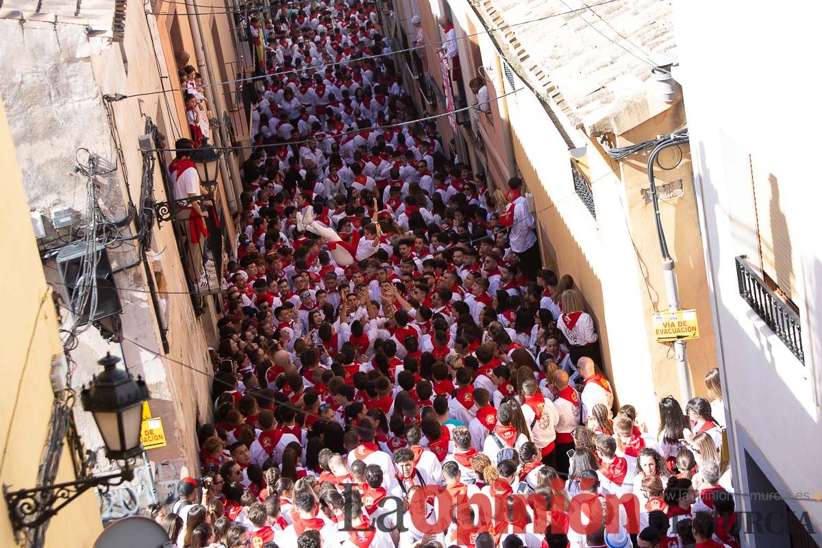
[[[76,481],[54,483],[50,486],[38,486],[32,489],[11,491],[3,485],[3,496],[8,505],[9,518],[15,531],[39,527],[51,519],[63,506],[75,500],[92,487],[108,491],[125,481],[134,479],[134,472],[127,467],[118,472],[109,472],[99,476],[78,478]]]

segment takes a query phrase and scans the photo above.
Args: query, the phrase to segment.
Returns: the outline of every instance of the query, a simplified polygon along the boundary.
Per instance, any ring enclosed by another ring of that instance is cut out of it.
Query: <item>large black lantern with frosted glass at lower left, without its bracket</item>
[[[118,369],[119,357],[107,353],[98,363],[104,366],[91,384],[83,387],[83,409],[95,417],[103,436],[106,457],[124,460],[141,454],[140,443],[143,402],[150,398],[141,377],[135,380],[131,373]]]

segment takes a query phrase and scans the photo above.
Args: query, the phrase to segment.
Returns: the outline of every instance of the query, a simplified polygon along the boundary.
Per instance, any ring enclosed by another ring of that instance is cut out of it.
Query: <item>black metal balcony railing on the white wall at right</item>
[[[805,352],[802,350],[802,329],[799,314],[792,306],[785,302],[764,281],[762,271],[750,264],[747,256],[737,257],[737,281],[739,295],[760,316],[762,321],[774,331],[788,350],[793,352],[803,364]]]

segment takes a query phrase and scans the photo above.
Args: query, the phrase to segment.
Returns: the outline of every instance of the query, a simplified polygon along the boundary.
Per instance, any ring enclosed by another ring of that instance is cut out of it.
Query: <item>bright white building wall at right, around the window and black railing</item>
[[[812,68],[819,11],[810,2],[775,7],[678,0],[675,7],[681,63],[675,76],[685,93],[698,194],[701,189],[729,415],[735,431],[744,429],[764,455],[766,462],[758,464],[774,486],[810,495],[820,491],[822,452],[822,193],[814,162],[822,110]],[[734,257],[747,254],[758,261],[749,154],[778,178],[779,208],[792,246],[801,250],[794,301],[801,311],[805,366],[739,296]],[[819,531],[822,505],[801,506]],[[755,539],[749,541],[756,546]]]

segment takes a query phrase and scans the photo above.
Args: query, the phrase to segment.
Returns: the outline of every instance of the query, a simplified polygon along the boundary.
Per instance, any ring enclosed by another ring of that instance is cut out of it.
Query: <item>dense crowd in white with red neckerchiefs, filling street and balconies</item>
[[[656,434],[615,407],[574,280],[540,268],[522,182],[492,191],[415,121],[376,5],[272,2],[249,24],[269,76],[201,477],[152,509],[171,540],[738,546],[716,371],[713,402],[663,398]],[[193,146],[176,145],[178,198],[200,191]]]

